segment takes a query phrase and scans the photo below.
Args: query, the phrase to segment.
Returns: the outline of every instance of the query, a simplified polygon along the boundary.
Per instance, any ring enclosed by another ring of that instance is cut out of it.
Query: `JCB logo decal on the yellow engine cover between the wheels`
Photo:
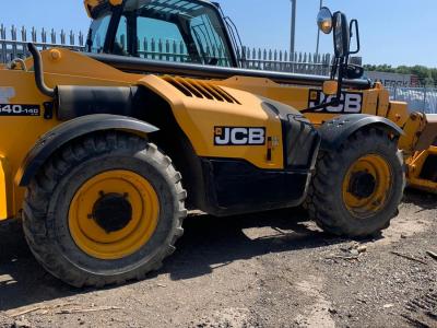
[[[265,128],[215,127],[215,145],[263,145]]]

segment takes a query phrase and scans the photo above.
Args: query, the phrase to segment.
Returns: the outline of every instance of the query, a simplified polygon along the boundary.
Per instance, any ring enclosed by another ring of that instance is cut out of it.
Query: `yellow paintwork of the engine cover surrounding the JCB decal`
[[[138,83],[150,87],[170,104],[178,125],[190,139],[199,156],[246,159],[260,168],[283,168],[281,143],[273,150],[272,159],[268,160],[263,147],[223,148],[215,147],[210,142],[211,133],[215,127],[262,127],[267,122],[270,124],[268,125],[268,134],[280,140],[282,136],[281,122],[275,119],[272,113],[259,110],[262,104],[262,98],[259,96],[225,87],[225,84],[218,83],[227,93],[240,102],[240,104],[229,104],[197,97],[181,97],[179,94],[175,94],[173,85],[156,75],[147,75]]]

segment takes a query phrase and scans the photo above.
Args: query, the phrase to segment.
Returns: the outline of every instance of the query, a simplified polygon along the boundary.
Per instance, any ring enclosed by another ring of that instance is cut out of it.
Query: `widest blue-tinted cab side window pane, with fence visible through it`
[[[167,21],[137,19],[138,56],[165,61],[190,62],[179,27]]]

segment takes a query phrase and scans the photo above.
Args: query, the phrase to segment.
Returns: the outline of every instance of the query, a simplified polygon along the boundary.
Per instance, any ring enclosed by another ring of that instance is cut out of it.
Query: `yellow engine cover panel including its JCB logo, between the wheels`
[[[189,83],[193,81],[185,82],[193,92]],[[284,167],[281,121],[264,98],[229,87],[222,87],[222,91],[233,102],[196,94],[188,96],[156,75],[144,77],[139,84],[170,104],[178,125],[199,156],[244,159],[259,168]]]

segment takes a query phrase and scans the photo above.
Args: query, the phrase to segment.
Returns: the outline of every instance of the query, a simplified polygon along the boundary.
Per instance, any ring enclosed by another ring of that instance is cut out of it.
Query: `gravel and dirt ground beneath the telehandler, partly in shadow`
[[[187,219],[147,280],[75,290],[0,229],[0,327],[437,327],[437,197],[409,191],[376,239],[329,236],[303,210]]]

